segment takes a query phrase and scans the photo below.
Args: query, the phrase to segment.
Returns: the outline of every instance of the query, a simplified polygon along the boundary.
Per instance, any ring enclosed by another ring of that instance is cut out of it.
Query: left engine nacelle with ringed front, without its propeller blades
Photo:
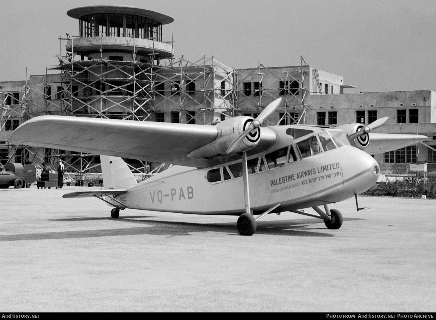
[[[188,154],[191,159],[215,158],[224,156],[230,144],[247,129],[254,119],[249,116],[237,116],[216,125],[218,136],[214,142]],[[252,130],[232,153],[251,150],[260,141],[260,128]]]

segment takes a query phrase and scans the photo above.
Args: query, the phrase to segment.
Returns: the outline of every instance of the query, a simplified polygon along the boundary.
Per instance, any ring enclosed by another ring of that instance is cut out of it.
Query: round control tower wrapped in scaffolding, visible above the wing
[[[172,17],[130,6],[95,5],[68,10],[79,37],[68,37],[57,95],[61,114],[150,120],[155,98],[153,68],[174,56],[162,41]]]

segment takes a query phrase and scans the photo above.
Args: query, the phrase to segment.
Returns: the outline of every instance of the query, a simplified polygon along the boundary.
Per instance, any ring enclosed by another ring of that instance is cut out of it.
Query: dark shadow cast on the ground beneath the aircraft
[[[192,223],[181,221],[161,221],[149,220],[155,218],[148,216],[124,216],[117,220],[110,217],[88,217],[88,218],[65,218],[49,219],[50,221],[87,221],[87,220],[105,220],[110,219],[120,223],[129,222],[137,225],[146,225],[144,227],[129,228],[112,228],[112,229],[94,229],[79,231],[58,231],[58,232],[41,232],[15,235],[0,235],[0,242],[3,241],[20,241],[20,240],[50,240],[50,239],[67,239],[67,238],[94,238],[110,237],[123,235],[191,235],[193,232],[222,232],[228,235],[238,235],[236,230],[236,217],[234,222],[217,222],[217,223]],[[140,220],[139,220],[140,219]],[[344,221],[364,220],[360,218],[344,218]],[[334,237],[334,234],[311,231],[307,226],[313,224],[323,224],[320,219],[292,219],[276,221],[259,221],[256,234],[260,235],[284,235],[300,237]],[[317,228],[327,231],[327,228]]]

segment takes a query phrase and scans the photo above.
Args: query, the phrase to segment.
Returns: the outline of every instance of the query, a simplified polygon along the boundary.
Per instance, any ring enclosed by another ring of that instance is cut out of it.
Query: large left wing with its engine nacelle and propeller
[[[281,101],[279,98],[271,102],[256,119],[237,116],[216,126],[39,116],[15,129],[9,142],[188,167],[209,167],[235,160],[239,152],[258,153],[272,146],[276,134],[268,128],[260,128],[260,125]]]

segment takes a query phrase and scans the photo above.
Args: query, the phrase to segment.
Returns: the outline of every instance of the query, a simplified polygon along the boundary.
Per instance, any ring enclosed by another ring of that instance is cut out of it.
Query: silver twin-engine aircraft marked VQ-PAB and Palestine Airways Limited
[[[388,118],[367,126],[261,127],[281,100],[270,103],[256,119],[236,116],[212,126],[38,116],[14,130],[9,142],[102,154],[105,189],[63,197],[97,197],[114,207],[112,218],[125,208],[229,214],[239,216],[241,235],[252,235],[256,221],[282,211],[320,218],[327,228],[340,228],[341,212],[328,204],[354,197],[376,183],[380,168],[370,154],[427,139],[369,133]],[[121,157],[172,167],[136,183]],[[309,207],[318,215],[301,210]]]

